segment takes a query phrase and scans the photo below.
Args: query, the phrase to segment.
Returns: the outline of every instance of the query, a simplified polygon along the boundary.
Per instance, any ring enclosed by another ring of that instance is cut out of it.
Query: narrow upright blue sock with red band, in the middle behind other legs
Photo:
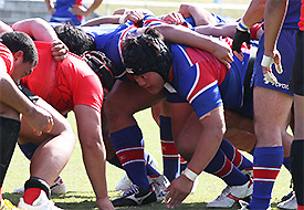
[[[172,139],[171,118],[159,116],[164,175],[172,181],[180,175],[179,154]]]

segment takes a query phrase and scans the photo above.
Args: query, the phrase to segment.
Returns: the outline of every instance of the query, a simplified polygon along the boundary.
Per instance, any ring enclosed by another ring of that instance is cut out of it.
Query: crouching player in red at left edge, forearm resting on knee
[[[1,28],[1,30],[3,28]],[[33,67],[36,65],[38,53],[34,43],[25,33],[22,32],[2,33],[0,39],[7,46],[6,48],[1,44],[2,67],[9,70],[8,74],[11,74],[13,82],[18,84],[20,78],[31,74]],[[56,174],[63,169],[72,154],[75,143],[72,127],[64,117],[62,117],[44,101],[34,97],[32,94],[29,94],[27,91],[21,88],[21,91],[32,102],[24,98],[23,94],[17,92],[18,88],[8,88],[8,84],[10,84],[11,81],[6,81],[6,74],[2,74],[1,77],[3,78],[1,80],[1,84],[7,82],[7,86],[3,86],[3,88],[1,86],[0,103],[2,113],[0,144],[2,145],[1,187],[17,138],[20,136],[24,127],[28,127],[28,132],[38,139],[39,148],[33,157],[33,161],[31,162],[31,178],[25,182],[28,190],[27,195],[24,195],[21,200],[29,201],[36,198],[35,200],[38,200],[38,202],[43,200],[43,207],[40,206],[40,209],[57,209],[53,202],[48,199],[50,190],[49,185],[54,181],[54,178],[57,176]],[[15,97],[17,94],[18,97]],[[21,124],[19,122],[19,113],[22,114]],[[32,127],[36,129],[35,133],[33,133]],[[59,145],[62,144],[65,145],[64,149],[59,147]],[[54,156],[60,156],[61,159],[57,160]],[[20,201],[20,206],[22,206],[22,201]],[[8,201],[2,201],[1,198],[1,209],[2,208],[14,207]],[[21,209],[31,208],[22,207]]]

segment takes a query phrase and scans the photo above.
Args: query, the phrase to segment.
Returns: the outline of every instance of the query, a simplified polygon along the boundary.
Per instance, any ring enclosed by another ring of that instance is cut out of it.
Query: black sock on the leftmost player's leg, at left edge
[[[19,120],[0,117],[0,187],[3,185],[19,132]]]

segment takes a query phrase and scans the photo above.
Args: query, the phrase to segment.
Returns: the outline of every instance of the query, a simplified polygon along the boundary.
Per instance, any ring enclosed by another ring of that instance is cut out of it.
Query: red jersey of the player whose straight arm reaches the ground
[[[21,83],[65,114],[77,104],[102,111],[103,86],[98,76],[81,57],[69,53],[62,62],[53,60],[51,43],[35,42],[39,63]]]

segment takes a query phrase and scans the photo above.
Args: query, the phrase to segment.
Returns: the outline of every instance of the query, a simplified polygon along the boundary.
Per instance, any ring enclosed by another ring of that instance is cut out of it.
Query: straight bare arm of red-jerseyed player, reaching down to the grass
[[[74,112],[77,120],[83,161],[96,195],[98,208],[114,209],[108,199],[106,188],[106,153],[102,137],[101,114],[86,105],[76,105]]]

